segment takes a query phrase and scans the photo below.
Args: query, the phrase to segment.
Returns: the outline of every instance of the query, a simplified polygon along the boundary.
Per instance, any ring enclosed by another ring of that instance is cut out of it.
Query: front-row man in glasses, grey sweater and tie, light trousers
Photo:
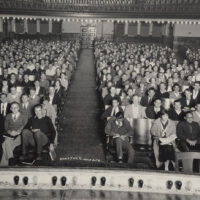
[[[19,111],[19,104],[13,102],[9,113],[5,118],[5,141],[2,144],[3,155],[1,166],[8,165],[10,158],[13,158],[13,150],[21,145],[21,132],[27,123],[27,118]]]

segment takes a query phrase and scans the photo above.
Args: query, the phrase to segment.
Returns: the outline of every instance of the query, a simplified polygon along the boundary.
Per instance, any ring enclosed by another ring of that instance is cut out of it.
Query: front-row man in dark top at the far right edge
[[[200,151],[200,126],[193,120],[192,112],[186,113],[185,121],[178,123],[176,132],[180,151]]]

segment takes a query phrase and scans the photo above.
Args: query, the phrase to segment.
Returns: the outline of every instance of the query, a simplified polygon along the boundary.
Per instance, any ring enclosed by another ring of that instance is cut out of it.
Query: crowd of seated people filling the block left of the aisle
[[[20,161],[58,145],[57,119],[76,68],[78,41],[13,40],[0,43],[1,166],[21,147]]]

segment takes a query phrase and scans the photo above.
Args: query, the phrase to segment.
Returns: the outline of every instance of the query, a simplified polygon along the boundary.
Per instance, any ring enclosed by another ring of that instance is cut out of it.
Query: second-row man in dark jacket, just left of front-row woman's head
[[[146,108],[146,116],[149,119],[158,119],[160,117],[161,113],[161,107],[162,102],[161,99],[155,99],[154,100],[154,105],[153,106],[148,106]]]

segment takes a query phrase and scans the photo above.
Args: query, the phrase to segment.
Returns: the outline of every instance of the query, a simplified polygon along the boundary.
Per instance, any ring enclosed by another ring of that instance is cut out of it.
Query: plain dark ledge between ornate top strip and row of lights
[[[48,10],[43,8],[31,9],[14,9],[14,8],[0,8],[0,14],[4,15],[15,15],[21,16],[21,14],[26,16],[46,16],[46,17],[78,17],[78,18],[154,18],[154,19],[200,19],[199,10],[190,11],[148,11],[148,10],[74,10],[74,11],[65,11],[63,9],[54,9]]]

